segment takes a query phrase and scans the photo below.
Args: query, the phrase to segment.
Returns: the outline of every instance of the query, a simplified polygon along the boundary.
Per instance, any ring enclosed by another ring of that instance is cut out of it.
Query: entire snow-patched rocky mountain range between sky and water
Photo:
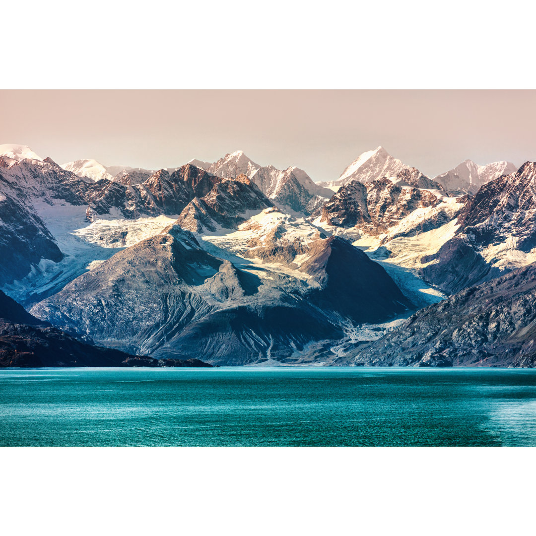
[[[86,352],[52,366],[533,366],[535,181],[383,147],[317,184],[242,151],[148,170],[1,145],[0,288],[29,315],[4,330]]]

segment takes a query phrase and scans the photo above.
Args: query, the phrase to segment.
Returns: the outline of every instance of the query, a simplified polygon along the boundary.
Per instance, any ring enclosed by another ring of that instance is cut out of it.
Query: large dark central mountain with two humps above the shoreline
[[[32,312],[131,353],[244,364],[293,362],[311,341],[340,339],[345,319],[377,321],[407,310],[381,266],[345,240],[319,241],[304,267],[317,281],[311,286],[259,266],[238,269],[175,225],[118,252]]]

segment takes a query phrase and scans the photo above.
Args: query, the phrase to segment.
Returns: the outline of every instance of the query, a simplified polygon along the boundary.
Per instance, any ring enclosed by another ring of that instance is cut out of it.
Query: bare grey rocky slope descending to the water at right
[[[421,309],[339,364],[534,367],[535,343],[536,264],[531,264]]]

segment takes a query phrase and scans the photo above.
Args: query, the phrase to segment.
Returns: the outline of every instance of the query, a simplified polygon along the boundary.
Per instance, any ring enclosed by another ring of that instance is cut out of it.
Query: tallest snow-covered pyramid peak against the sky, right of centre
[[[373,151],[362,153],[346,167],[336,181],[320,184],[333,188],[341,187],[351,181],[367,183],[377,178],[395,177],[404,169],[408,169],[408,166],[397,158],[393,158],[382,146],[379,146]]]

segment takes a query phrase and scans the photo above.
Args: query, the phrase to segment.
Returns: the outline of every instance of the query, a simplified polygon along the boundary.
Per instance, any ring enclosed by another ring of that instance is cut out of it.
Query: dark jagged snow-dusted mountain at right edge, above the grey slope
[[[536,163],[482,187],[458,215],[457,235],[421,275],[444,292],[457,292],[536,260]]]

